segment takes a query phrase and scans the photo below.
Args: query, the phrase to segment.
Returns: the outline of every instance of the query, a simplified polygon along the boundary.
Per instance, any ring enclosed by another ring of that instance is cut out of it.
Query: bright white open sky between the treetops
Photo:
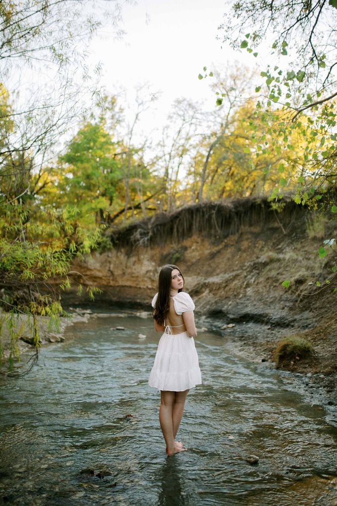
[[[254,57],[223,48],[216,37],[221,32],[225,5],[222,0],[139,0],[136,6],[123,8],[122,40],[115,40],[104,30],[90,44],[90,62],[103,64],[102,85],[108,92],[128,90],[148,82],[152,92],[160,91],[156,112],[143,115],[141,128],[145,135],[156,137],[176,98],[205,101],[215,106],[216,96],[209,90],[210,78],[198,79],[204,66],[235,62],[254,66]],[[131,102],[132,103],[132,100]],[[132,105],[131,105],[132,108]],[[128,107],[127,107],[128,109]],[[131,111],[129,110],[130,114]]]

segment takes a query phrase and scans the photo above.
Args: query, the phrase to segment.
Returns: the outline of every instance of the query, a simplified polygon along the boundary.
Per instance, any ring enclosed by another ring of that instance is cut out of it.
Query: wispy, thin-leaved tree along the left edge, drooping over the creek
[[[12,338],[10,368],[19,336],[13,315],[21,312],[32,318],[37,357],[37,315],[55,319],[62,314],[59,291],[69,286],[71,260],[90,252],[100,238],[99,227],[82,227],[73,203],[57,207],[47,201],[46,192],[52,194],[51,183],[56,180],[51,160],[57,143],[83,112],[76,79],[84,94],[97,92],[85,46],[77,47],[80,42],[88,44],[102,25],[97,7],[104,5],[109,4],[0,3],[0,285],[1,305],[10,309],[1,323],[8,326]],[[110,5],[117,9],[108,18],[116,27],[121,7]],[[42,69],[39,86],[29,95],[26,75],[29,82],[29,73]],[[20,80],[26,89],[14,87]],[[87,289],[93,296],[95,289]]]

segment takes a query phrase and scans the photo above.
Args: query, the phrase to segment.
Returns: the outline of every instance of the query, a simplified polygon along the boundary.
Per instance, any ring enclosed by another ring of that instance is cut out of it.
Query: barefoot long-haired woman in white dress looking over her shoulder
[[[193,337],[194,303],[183,292],[184,277],[176,265],[165,265],[152,300],[154,328],[163,332],[149,377],[150,387],[160,390],[159,422],[167,455],[185,451],[176,441],[190,388],[201,384],[201,372]]]

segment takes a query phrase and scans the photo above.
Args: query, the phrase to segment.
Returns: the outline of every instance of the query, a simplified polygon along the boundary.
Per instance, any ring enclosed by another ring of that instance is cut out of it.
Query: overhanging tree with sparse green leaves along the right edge
[[[257,147],[263,146],[266,135],[270,137],[263,147],[265,154],[274,149],[279,153],[297,152],[280,163],[279,181],[271,198],[280,200],[289,195],[298,204],[324,210],[331,219],[337,212],[337,62],[331,51],[336,46],[336,9],[334,0],[231,2],[224,33],[224,40],[230,40],[233,47],[245,49],[255,57],[261,41],[273,37],[274,64],[261,72],[264,82],[256,87],[260,95],[255,120],[246,130]],[[286,58],[288,52],[290,59]],[[282,58],[286,68],[282,68]],[[264,125],[260,134],[259,120]],[[327,255],[329,248],[335,255],[336,238],[324,241],[319,248],[320,257]],[[333,272],[335,268],[334,257]],[[331,286],[330,283],[331,279],[327,279],[324,286]]]

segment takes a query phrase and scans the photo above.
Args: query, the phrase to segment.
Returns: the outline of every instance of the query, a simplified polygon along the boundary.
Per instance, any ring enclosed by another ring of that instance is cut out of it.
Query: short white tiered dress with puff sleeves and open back
[[[158,293],[152,299],[152,307]],[[194,311],[194,303],[186,292],[179,292],[173,297],[175,311],[178,315]],[[158,390],[182,392],[201,385],[201,371],[194,339],[187,332],[173,334],[170,326],[165,326],[157,348],[154,364],[149,377],[150,387]]]

